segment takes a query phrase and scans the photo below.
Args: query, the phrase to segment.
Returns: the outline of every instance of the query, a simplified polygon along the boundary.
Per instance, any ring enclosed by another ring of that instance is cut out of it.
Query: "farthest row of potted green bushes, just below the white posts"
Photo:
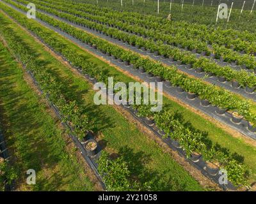
[[[44,0],[45,2],[52,3],[51,0]],[[56,3],[56,1],[55,1]],[[59,5],[70,7],[70,3],[58,2]],[[83,5],[83,6],[81,6]],[[141,15],[135,12],[122,12],[111,10],[109,8],[99,8],[92,4],[84,3],[72,3],[76,10],[83,11],[86,13],[92,13],[93,15],[106,16],[111,15],[113,19],[122,19],[124,22],[129,24],[140,24],[143,27],[154,29],[156,31],[164,31],[166,34],[180,33],[185,38],[191,38],[191,40],[203,40],[207,43],[218,43],[218,45],[227,45],[228,48],[234,48],[237,51],[242,51],[248,54],[255,54],[256,44],[255,36],[248,31],[239,32],[234,29],[214,29],[214,27],[207,27],[201,24],[191,24],[184,21],[172,21],[156,17],[154,15]]]

